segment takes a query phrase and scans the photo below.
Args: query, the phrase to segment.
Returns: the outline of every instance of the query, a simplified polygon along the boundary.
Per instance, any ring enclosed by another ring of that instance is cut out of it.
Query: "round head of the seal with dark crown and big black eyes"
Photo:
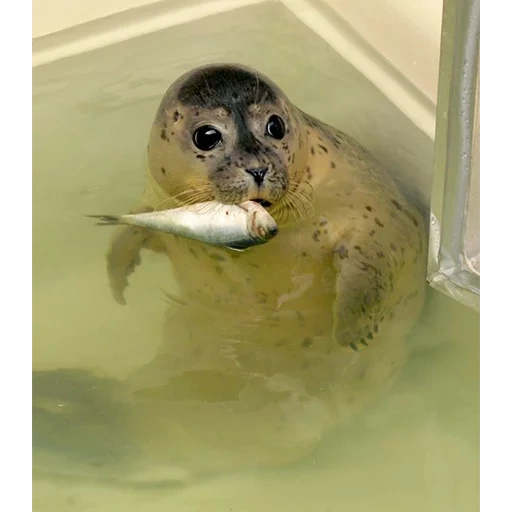
[[[298,110],[267,77],[233,64],[199,67],[164,95],[149,171],[180,203],[252,200],[272,207],[302,181],[302,126]]]

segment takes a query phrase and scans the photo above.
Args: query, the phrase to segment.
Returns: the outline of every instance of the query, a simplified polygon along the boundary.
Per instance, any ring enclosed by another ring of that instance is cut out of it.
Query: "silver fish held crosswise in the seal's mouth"
[[[129,224],[243,251],[278,233],[270,213],[254,201],[225,205],[210,201],[170,210],[127,215],[88,215],[100,226]]]

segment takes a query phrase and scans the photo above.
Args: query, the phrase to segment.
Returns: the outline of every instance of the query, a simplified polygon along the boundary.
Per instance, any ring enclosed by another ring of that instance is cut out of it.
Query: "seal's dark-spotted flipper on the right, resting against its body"
[[[385,299],[393,289],[392,274],[380,254],[362,241],[342,241],[334,248],[333,338],[341,347],[362,350],[378,337],[386,316]]]

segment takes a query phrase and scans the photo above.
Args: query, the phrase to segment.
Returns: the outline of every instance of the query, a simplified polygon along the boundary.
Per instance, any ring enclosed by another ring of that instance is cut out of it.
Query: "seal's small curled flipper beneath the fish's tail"
[[[151,211],[153,208],[139,206],[130,213]],[[124,291],[128,287],[128,276],[140,264],[140,251],[143,247],[155,252],[163,250],[155,233],[136,226],[119,227],[110,242],[106,254],[107,274],[112,296],[119,304],[126,304]]]

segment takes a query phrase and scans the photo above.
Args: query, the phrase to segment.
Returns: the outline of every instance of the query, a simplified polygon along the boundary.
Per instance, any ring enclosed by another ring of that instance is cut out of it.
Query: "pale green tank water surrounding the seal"
[[[123,378],[154,356],[166,308],[161,290],[174,287],[168,262],[145,255],[131,278],[129,303],[119,307],[104,268],[110,232],[83,215],[117,213],[136,202],[161,95],[182,71],[220,60],[268,74],[301,108],[355,135],[428,197],[432,142],[277,5],[37,68],[34,370],[79,368]],[[37,474],[33,510],[479,510],[479,321],[476,313],[432,292],[411,341],[413,356],[396,386],[291,467],[220,475],[174,489]],[[81,448],[87,451],[87,445]]]

